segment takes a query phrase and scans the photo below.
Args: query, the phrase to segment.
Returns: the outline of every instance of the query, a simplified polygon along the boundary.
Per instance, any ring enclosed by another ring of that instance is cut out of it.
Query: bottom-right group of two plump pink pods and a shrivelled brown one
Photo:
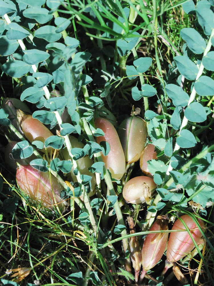
[[[150,228],[151,233],[146,235],[141,252],[136,239],[130,239],[131,259],[135,269],[136,282],[138,281],[141,265],[143,270],[139,280],[140,283],[147,271],[160,261],[166,250],[167,260],[162,273],[164,275],[169,267],[173,266],[174,262],[188,255],[195,248],[195,244],[199,244],[204,227],[204,223],[199,217],[193,220],[189,215],[182,215],[175,221],[171,231],[169,231],[168,217],[158,216],[156,222]],[[170,235],[169,232],[171,232]]]

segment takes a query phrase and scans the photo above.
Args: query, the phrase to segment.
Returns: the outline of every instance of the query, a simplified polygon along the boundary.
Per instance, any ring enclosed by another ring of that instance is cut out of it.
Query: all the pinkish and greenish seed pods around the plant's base
[[[28,110],[23,102],[19,102],[16,99],[5,99],[3,107],[8,110],[12,124],[19,132],[24,134],[29,142],[32,143],[35,140],[39,140],[44,143],[48,137],[53,136],[53,133],[45,125],[29,114],[30,110]],[[28,114],[17,108],[24,110]],[[127,166],[140,159],[140,168],[144,175],[134,177],[125,183],[123,197],[126,202],[132,204],[149,202],[156,184],[149,173],[147,161],[156,159],[157,156],[154,145],[149,143],[145,148],[147,138],[145,121],[140,117],[131,116],[120,124],[117,131],[113,124],[105,118],[98,117],[94,123],[95,128],[100,128],[104,132],[104,136],[96,137],[97,143],[106,141],[110,145],[110,152],[107,156],[102,154],[102,159],[106,169],[111,172],[113,179],[120,180],[126,173]],[[72,148],[84,147],[84,144],[79,142],[74,136],[70,136],[69,138]],[[19,188],[37,205],[39,204],[48,208],[57,206],[61,211],[64,211],[67,202],[60,196],[63,189],[62,185],[49,172],[41,172],[29,164],[35,158],[34,154],[25,160],[16,160],[18,162],[17,166],[15,160],[11,158],[11,151],[16,143],[16,141],[10,141],[7,145],[5,162],[11,168],[17,170],[16,180]],[[58,151],[58,156],[62,160],[70,160],[66,148]],[[48,150],[44,148],[41,152],[53,153],[54,150],[49,147]],[[87,155],[78,159],[80,173],[92,176],[89,196],[94,195],[96,192],[95,174],[92,174],[88,170],[92,164],[93,160]],[[66,174],[66,180],[77,181],[73,169]],[[198,228],[198,225],[200,225],[201,229],[204,228],[203,221],[200,218],[197,219],[196,224],[196,220],[194,221],[189,215],[183,215],[175,221],[168,240],[170,232],[168,231],[168,224],[164,217],[159,216],[150,229],[151,232],[156,232],[149,233],[146,236],[141,251],[138,244],[136,244],[136,239],[131,238],[130,252],[132,264],[136,272],[136,282],[138,281],[141,265],[143,270],[140,282],[146,272],[160,261],[165,249],[167,249],[168,265],[189,254],[195,246],[193,241],[197,244],[201,239],[201,230]],[[187,229],[189,229],[189,232],[187,232]]]

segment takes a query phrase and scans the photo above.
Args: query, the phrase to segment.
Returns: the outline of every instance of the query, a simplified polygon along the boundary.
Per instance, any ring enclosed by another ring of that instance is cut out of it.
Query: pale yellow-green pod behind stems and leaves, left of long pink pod
[[[72,148],[83,148],[84,144],[82,142],[79,142],[77,138],[75,138],[74,136],[69,136],[70,139],[70,143]],[[67,148],[64,148],[61,150],[62,152],[62,156],[64,158],[64,160],[71,160],[70,156],[68,154],[68,150]],[[82,175],[88,175],[88,176],[92,176],[91,179],[91,191],[89,193],[89,196],[93,196],[96,192],[96,177],[94,173],[91,173],[88,168],[92,166],[93,164],[93,160],[89,158],[88,155],[84,156],[83,158],[80,158],[77,160],[77,164],[79,166],[79,171],[80,174]],[[77,182],[77,178],[74,175],[74,168],[72,167],[72,170],[70,171],[70,173],[67,174],[67,179],[68,180],[72,180],[73,182]]]

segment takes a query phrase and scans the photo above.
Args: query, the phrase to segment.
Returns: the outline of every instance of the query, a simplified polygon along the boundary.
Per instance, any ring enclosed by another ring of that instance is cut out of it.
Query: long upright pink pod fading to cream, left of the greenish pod
[[[114,126],[104,118],[97,118],[95,120],[95,127],[102,129],[104,136],[96,137],[97,143],[106,141],[110,145],[110,152],[107,156],[102,154],[102,160],[106,165],[112,178],[120,180],[125,172],[126,162],[123,148],[120,143],[119,136]]]

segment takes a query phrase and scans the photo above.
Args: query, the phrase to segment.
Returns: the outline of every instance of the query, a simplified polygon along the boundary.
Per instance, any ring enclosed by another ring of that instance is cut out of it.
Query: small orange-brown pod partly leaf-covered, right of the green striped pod
[[[157,153],[155,151],[155,146],[153,144],[148,144],[140,156],[140,168],[148,177],[152,177],[152,174],[149,172],[147,161],[152,159],[157,159]]]

